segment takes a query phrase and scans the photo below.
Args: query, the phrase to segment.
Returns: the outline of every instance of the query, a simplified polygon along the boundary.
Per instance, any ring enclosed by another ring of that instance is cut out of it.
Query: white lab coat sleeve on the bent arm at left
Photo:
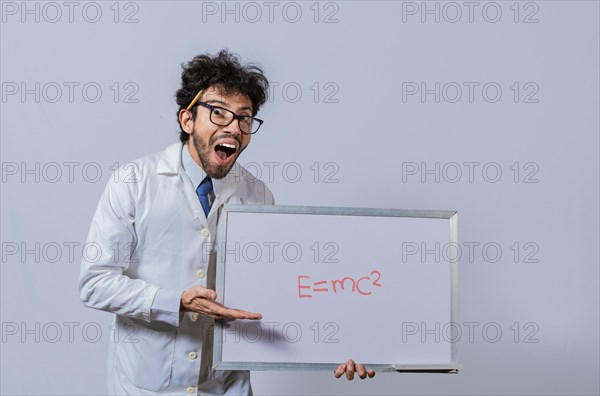
[[[182,291],[160,289],[123,272],[137,243],[138,182],[111,176],[100,198],[81,263],[79,294],[85,306],[147,322],[178,326]]]

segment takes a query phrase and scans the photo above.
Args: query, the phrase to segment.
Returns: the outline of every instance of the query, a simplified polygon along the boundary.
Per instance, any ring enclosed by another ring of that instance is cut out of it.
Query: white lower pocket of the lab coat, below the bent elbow
[[[119,376],[138,388],[160,391],[171,382],[176,330],[173,326],[153,326],[117,316],[117,330],[128,334],[116,338]]]

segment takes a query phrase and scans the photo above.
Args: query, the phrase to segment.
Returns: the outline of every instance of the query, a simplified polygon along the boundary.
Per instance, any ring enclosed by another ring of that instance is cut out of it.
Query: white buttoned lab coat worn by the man
[[[273,204],[273,195],[236,163],[213,181],[207,219],[182,169],[182,147],[173,144],[113,174],[90,227],[79,290],[86,306],[116,314],[112,394],[252,392],[247,371],[212,370],[213,320],[180,314],[179,304],[191,286],[214,289],[218,207]]]

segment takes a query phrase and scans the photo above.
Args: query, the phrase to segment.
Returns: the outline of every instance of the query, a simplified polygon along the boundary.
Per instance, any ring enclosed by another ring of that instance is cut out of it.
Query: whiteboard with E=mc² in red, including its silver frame
[[[276,205],[220,208],[217,370],[456,372],[457,212]]]

